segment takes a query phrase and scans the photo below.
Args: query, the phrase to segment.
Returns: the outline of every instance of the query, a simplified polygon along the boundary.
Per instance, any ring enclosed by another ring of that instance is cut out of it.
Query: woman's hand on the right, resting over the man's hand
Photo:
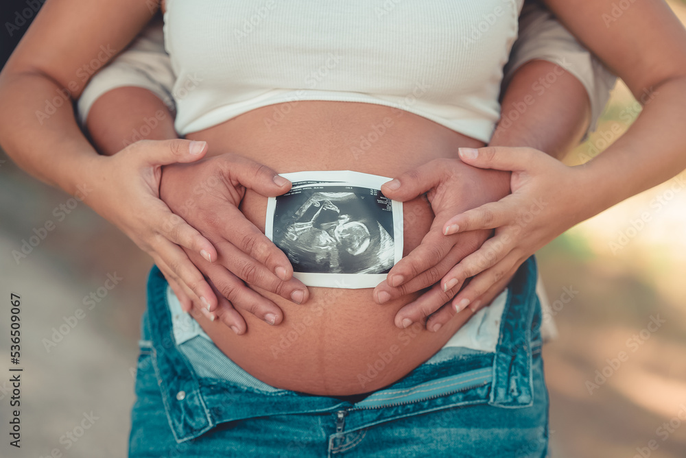
[[[568,167],[533,148],[460,148],[460,158],[474,167],[512,171],[512,194],[455,215],[443,226],[447,237],[495,228],[492,238],[440,282],[444,289],[454,289],[471,278],[452,301],[458,312],[487,304],[484,298],[493,299],[529,256],[594,213],[593,189],[584,179],[583,165]],[[450,317],[438,314],[434,326]]]

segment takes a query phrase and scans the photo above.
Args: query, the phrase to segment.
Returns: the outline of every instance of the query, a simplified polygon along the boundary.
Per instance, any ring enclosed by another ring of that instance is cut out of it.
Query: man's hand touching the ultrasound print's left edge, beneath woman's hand
[[[193,264],[211,280],[220,296],[268,324],[281,323],[281,309],[245,282],[297,304],[305,302],[309,294],[302,282],[292,278],[293,267],[286,255],[246,219],[238,206],[246,189],[274,197],[289,191],[290,185],[269,167],[236,154],[222,154],[189,165],[165,167],[160,186],[161,199],[169,208],[217,249],[215,263],[186,250]],[[246,324],[230,304],[220,300],[217,314],[242,334]],[[226,310],[228,315],[224,315]],[[214,316],[210,315],[212,319]]]

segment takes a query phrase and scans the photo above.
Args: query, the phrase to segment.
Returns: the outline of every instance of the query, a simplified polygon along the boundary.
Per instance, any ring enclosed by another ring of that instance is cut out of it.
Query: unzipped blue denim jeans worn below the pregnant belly
[[[130,457],[545,457],[548,396],[535,286],[530,258],[510,283],[495,352],[444,348],[360,400],[266,390],[247,373],[198,375],[176,345],[167,282],[154,267]]]

